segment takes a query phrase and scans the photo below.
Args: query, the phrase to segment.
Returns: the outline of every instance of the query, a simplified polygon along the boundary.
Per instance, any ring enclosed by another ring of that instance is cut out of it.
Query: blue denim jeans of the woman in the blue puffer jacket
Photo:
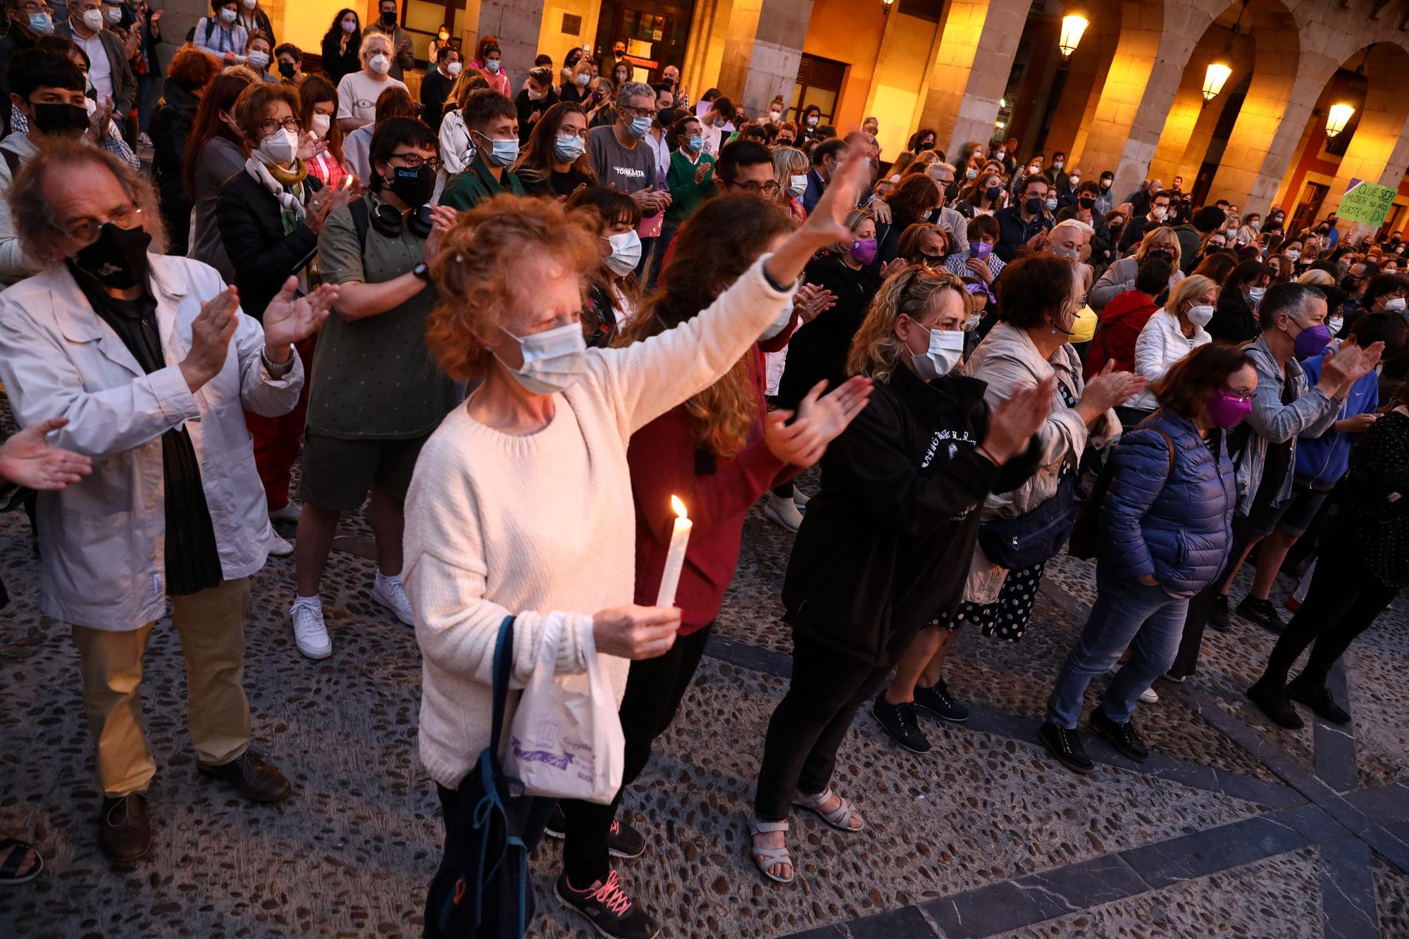
[[[1120,660],[1130,660],[1116,673],[1100,701],[1100,709],[1116,723],[1126,723],[1136,702],[1155,678],[1168,671],[1184,634],[1186,596],[1169,596],[1162,587],[1117,578],[1096,568],[1096,605],[1086,629],[1057,673],[1057,685],[1047,699],[1047,716],[1058,726],[1074,729],[1081,718],[1086,685],[1095,675]]]

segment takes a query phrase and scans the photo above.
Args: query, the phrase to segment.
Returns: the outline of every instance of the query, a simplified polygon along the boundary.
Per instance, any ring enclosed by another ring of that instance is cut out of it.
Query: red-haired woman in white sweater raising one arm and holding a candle
[[[631,434],[714,383],[782,316],[813,252],[848,237],[869,182],[848,161],[807,221],[709,309],[626,348],[586,348],[583,275],[599,240],[552,200],[497,196],[464,214],[431,261],[427,340],[482,385],[431,434],[406,498],[406,572],[421,649],[420,756],[445,816],[490,739],[499,625],[516,616],[511,687],[562,623],[559,674],[600,654],[620,704],[628,660],[664,654],[678,609],[635,606]],[[510,712],[517,695],[510,696]],[[507,735],[506,735],[507,736]],[[551,802],[530,811],[530,850]],[[561,892],[561,891],[559,891]],[[626,919],[613,877],[593,902]],[[575,905],[578,905],[575,902]]]

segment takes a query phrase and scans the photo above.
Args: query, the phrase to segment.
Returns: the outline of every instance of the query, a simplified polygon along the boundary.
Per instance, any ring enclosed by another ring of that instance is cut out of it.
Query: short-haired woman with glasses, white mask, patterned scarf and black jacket
[[[297,92],[287,85],[251,83],[235,99],[232,120],[244,138],[244,172],[221,188],[216,200],[220,238],[240,288],[241,309],[256,320],[290,275],[307,289],[306,268],[318,247],[318,231],[328,213],[359,195],[352,186],[323,189],[299,159],[303,121]],[[311,337],[300,343],[299,354],[313,352]],[[307,367],[304,361],[304,367]],[[278,417],[249,415],[255,438],[255,465],[265,485],[272,513],[296,517],[289,503],[289,472],[299,455],[307,391],[299,406]],[[285,556],[293,547],[278,534],[273,553]]]

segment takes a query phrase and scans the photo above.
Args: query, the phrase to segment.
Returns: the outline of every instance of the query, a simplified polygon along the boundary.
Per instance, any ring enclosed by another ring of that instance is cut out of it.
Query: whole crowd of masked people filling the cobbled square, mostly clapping
[[[294,646],[333,656],[320,587],[364,506],[371,596],[423,656],[447,861],[496,681],[606,675],[614,795],[528,792],[513,835],[564,839],[555,892],[607,936],[659,929],[613,867],[650,839],[620,804],[759,502],[796,533],[748,819],[771,881],[805,870],[795,806],[865,829],[865,792],[833,790],[857,712],[927,751],[921,712],[969,713],[944,680],[961,627],[1022,640],[1064,550],[1099,589],[1038,732],[1064,766],[1092,770],[1076,728],[1107,671],[1089,729],[1146,760],[1138,704],[1234,615],[1279,633],[1247,692],[1271,720],[1350,719],[1327,671],[1409,582],[1398,233],[1351,243],[1178,178],[1117,199],[1106,168],[1014,140],[945,154],[921,128],[882,159],[874,117],[838,135],[781,96],[693,102],[624,44],[510,76],[493,37],[468,58],[442,28],[417,76],[397,0],[341,10],[309,70],[258,0],[211,0],[145,107],[159,11],[7,8],[0,381],[23,430],[0,475],[77,650],[114,861],[152,843],[141,674],[168,601],[199,771],[279,801],[251,747],[249,578],[292,554]],[[658,605],[672,496],[692,537]],[[0,878],[41,866],[0,843]],[[531,911],[482,892],[483,923]],[[440,914],[433,891],[427,935]]]

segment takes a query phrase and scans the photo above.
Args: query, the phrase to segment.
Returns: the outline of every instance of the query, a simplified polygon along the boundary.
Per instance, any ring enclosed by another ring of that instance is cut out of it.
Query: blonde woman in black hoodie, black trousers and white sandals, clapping
[[[964,343],[952,327],[971,309],[958,278],[907,266],[851,344],[847,365],[874,382],[871,403],[821,458],[783,582],[792,680],[768,723],[750,825],[769,880],[793,880],[793,805],[840,832],[865,828],[831,791],[837,749],[914,634],[958,605],[983,499],[1037,465],[1029,440],[1051,382],[992,407],[983,382],[951,374]]]

